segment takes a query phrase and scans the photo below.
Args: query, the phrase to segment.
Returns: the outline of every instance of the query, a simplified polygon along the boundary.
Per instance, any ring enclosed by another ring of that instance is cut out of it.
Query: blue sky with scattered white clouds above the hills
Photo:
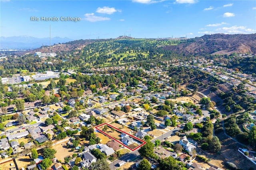
[[[0,0],[0,36],[71,39],[256,33],[255,0]],[[31,17],[81,21],[31,21]]]

